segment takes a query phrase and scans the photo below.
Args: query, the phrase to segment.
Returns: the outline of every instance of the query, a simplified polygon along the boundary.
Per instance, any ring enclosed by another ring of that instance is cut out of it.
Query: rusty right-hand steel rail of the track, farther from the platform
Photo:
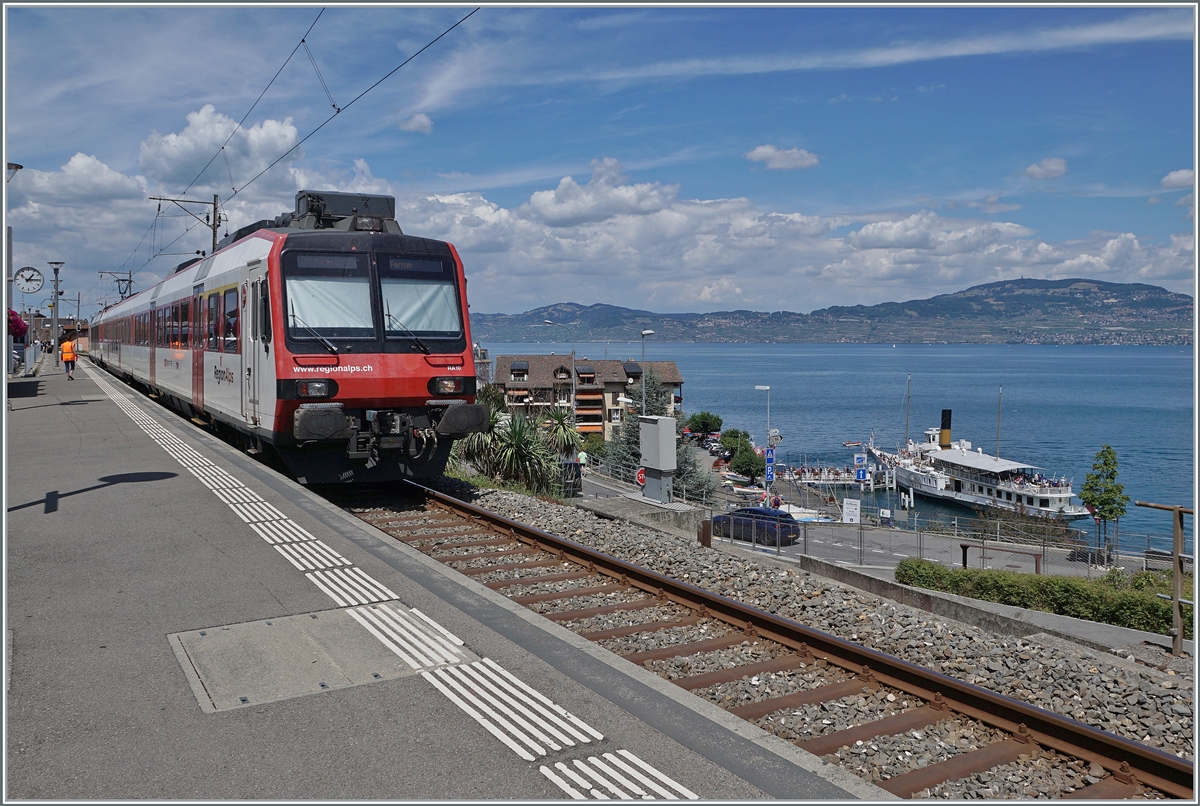
[[[565,537],[409,483],[424,491],[427,500],[444,509],[474,519],[487,521],[523,542],[541,545],[553,554],[595,567],[660,600],[665,597],[690,609],[707,610],[708,615],[739,627],[748,634],[775,640],[802,654],[823,656],[828,662],[852,673],[859,673],[864,666],[869,667],[881,684],[929,702],[934,702],[940,694],[952,711],[1013,735],[1027,733],[1043,747],[1098,763],[1114,774],[1130,769],[1136,780],[1147,787],[1174,798],[1193,799],[1194,765],[1187,759],[845,640],[703,588],[672,579]],[[1123,768],[1124,763],[1128,763],[1128,768]]]

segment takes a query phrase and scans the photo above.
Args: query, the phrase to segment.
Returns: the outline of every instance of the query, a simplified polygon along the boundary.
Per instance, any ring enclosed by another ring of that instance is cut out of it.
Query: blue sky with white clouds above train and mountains
[[[208,248],[149,197],[232,229],[325,188],[395,196],[485,313],[1194,293],[1190,6],[484,6],[347,106],[470,10],[6,6],[16,266],[65,261],[94,313],[97,272]]]

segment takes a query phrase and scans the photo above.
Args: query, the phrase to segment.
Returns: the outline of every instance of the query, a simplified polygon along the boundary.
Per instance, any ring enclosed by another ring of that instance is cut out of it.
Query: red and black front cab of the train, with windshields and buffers
[[[450,245],[425,239],[346,245],[341,234],[289,234],[258,282],[270,343],[247,339],[247,357],[274,355],[272,441],[301,483],[438,476],[452,440],[487,421],[475,404],[462,264]],[[259,410],[268,391],[254,396]]]

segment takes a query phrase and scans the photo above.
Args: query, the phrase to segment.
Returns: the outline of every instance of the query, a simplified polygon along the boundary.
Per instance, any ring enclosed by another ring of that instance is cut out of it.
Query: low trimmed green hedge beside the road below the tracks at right
[[[896,565],[896,582],[1142,632],[1163,636],[1171,632],[1170,601],[1144,590],[1117,590],[1103,582],[1078,577],[948,569],[930,560],[907,558]],[[1183,633],[1186,638],[1193,637],[1192,613],[1187,606],[1183,608]]]

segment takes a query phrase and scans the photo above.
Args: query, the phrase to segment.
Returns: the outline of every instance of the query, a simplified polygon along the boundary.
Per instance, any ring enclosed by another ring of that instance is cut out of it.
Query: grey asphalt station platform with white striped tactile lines
[[[10,379],[6,800],[890,800],[79,362]]]

